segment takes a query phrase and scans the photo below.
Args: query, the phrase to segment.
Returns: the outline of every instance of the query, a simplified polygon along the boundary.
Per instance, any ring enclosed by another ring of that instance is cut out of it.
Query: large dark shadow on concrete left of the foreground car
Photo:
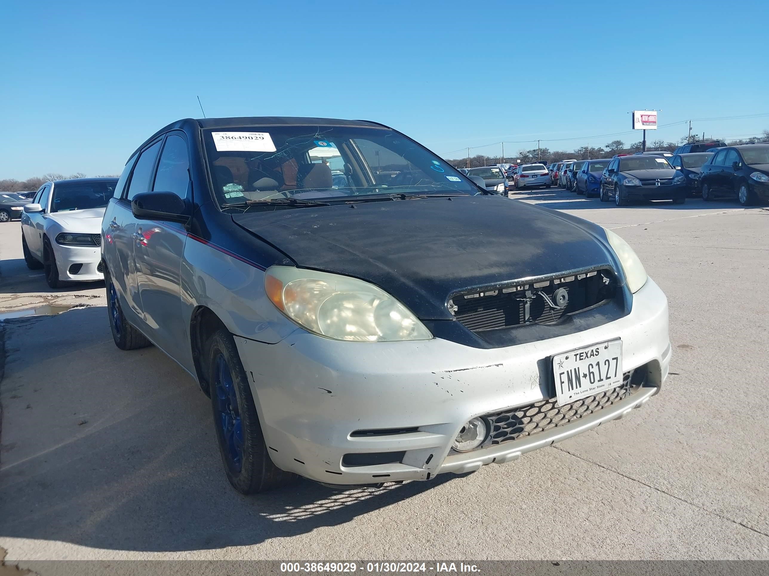
[[[129,551],[254,545],[457,478],[345,492],[300,480],[244,497],[222,471],[210,401],[158,349],[116,349],[104,306],[5,329],[0,536]]]

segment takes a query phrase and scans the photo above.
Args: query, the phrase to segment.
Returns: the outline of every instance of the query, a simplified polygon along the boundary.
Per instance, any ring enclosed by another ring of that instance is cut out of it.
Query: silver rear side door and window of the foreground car
[[[114,276],[116,287],[122,291],[123,300],[125,300],[126,306],[123,306],[123,313],[128,314],[131,317],[131,323],[140,327],[143,333],[146,333],[147,329],[144,325],[141,299],[138,294],[136,261],[134,259],[137,225],[134,214],[131,212],[131,200],[136,194],[147,192],[150,189],[150,178],[155,172],[155,164],[158,160],[162,141],[161,137],[148,144],[141,151],[131,170],[128,186],[112,209],[112,219],[106,223],[106,226],[112,230],[112,250],[116,260],[115,268],[109,262],[108,266],[110,266],[110,273]]]

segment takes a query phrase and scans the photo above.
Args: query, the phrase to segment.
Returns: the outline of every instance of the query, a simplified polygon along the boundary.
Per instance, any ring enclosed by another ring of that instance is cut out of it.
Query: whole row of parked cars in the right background
[[[508,194],[534,187],[561,186],[586,197],[614,200],[672,200],[687,197],[736,198],[743,206],[769,200],[769,144],[728,147],[724,142],[684,144],[674,152],[652,150],[596,160],[535,162],[461,170],[486,190]]]

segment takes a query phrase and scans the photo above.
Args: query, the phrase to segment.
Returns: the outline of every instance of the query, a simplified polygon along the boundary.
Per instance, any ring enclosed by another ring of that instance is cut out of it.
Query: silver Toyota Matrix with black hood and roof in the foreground
[[[198,382],[245,494],[510,462],[642,406],[671,358],[621,237],[370,121],[170,124],[125,165],[101,250],[115,344]]]

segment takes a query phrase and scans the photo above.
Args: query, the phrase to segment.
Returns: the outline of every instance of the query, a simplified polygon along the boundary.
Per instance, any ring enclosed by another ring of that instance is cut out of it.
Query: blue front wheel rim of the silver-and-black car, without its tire
[[[243,422],[241,421],[235,382],[225,356],[220,352],[215,360],[216,424],[221,429],[221,452],[233,472],[243,465]]]

